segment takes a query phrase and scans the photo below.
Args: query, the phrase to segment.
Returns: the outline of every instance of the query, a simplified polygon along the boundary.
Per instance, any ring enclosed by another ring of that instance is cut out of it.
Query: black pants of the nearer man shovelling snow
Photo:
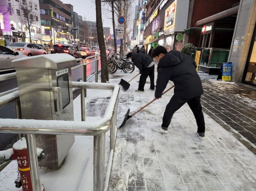
[[[181,101],[180,98],[174,95],[165,108],[162,127],[167,129],[171,123],[171,118],[173,114],[178,109],[180,109],[182,105],[184,105],[185,103],[188,103],[190,109],[194,114],[194,117],[196,118],[197,131],[204,132],[205,131],[204,117],[203,117],[202,106],[200,101],[201,101],[201,96],[195,97],[191,100]]]

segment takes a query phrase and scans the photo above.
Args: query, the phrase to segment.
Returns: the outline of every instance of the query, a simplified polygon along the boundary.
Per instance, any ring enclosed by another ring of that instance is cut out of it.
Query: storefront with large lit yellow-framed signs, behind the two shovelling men
[[[144,37],[151,38],[156,31],[158,38],[154,43],[146,40],[145,45],[164,46],[168,51],[175,49],[181,50],[183,47],[183,33],[187,26],[189,2],[176,0],[167,0],[159,4],[156,11],[145,24]],[[182,36],[182,38],[180,38]],[[177,38],[176,38],[177,37]]]

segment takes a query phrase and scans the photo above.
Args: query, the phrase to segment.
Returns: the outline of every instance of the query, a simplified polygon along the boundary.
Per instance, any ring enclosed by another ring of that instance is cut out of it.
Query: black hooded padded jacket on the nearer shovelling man
[[[169,80],[174,82],[174,96],[180,101],[188,101],[203,94],[202,82],[196,72],[197,65],[194,59],[171,50],[157,65],[157,81],[155,97],[160,98]]]

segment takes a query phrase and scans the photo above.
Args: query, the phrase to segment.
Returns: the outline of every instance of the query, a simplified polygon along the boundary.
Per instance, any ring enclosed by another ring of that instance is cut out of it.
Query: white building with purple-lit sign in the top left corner
[[[5,45],[11,42],[30,42],[29,30],[21,12],[22,7],[27,7],[35,16],[30,28],[32,42],[42,42],[38,0],[0,0],[0,4],[0,38],[5,41]]]

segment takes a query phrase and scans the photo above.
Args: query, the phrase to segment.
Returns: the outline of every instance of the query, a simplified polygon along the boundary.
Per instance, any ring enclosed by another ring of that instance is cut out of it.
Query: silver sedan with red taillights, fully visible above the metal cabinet
[[[24,54],[26,56],[36,56],[41,54],[46,54],[46,51],[41,47],[38,47],[34,43],[27,42],[13,42],[7,46],[14,52],[19,52],[19,54]]]

